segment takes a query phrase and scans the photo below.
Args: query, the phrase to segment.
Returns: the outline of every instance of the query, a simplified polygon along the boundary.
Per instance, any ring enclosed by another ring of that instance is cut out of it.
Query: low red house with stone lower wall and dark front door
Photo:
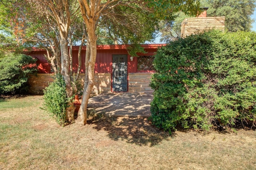
[[[107,92],[152,93],[150,88],[151,74],[154,73],[152,61],[159,47],[165,44],[142,45],[146,53],[138,53],[138,57],[130,56],[126,45],[97,45],[95,63],[95,84],[93,94]],[[73,69],[78,67],[78,46],[72,49]],[[86,46],[82,48],[82,69],[80,83],[84,81]],[[42,94],[48,83],[53,81],[50,63],[44,57],[44,49],[33,49],[28,55],[38,59],[38,75],[29,79],[30,93]]]

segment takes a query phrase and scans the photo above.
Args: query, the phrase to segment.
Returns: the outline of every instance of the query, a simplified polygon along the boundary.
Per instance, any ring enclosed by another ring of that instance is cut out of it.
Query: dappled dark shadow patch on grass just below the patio
[[[151,125],[146,118],[93,116],[88,124],[105,130],[112,140],[123,140],[139,146],[154,146],[170,136]]]

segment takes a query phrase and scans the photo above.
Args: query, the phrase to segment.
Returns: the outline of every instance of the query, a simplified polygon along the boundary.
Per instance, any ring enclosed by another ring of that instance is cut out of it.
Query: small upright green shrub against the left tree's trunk
[[[49,83],[44,90],[42,109],[48,111],[60,125],[64,126],[68,101],[65,81],[62,79],[62,75],[58,74],[54,81]]]

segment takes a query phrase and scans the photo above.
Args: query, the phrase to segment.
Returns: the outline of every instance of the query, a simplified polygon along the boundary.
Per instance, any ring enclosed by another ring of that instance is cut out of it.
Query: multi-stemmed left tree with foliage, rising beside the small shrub
[[[34,22],[39,19],[38,34],[33,36],[36,40],[42,40],[45,45],[52,66],[55,66],[56,59],[57,67],[54,69],[56,73],[60,73],[66,84],[66,93],[68,99],[72,99],[77,93],[76,81],[79,77],[81,65],[81,49],[86,38],[85,26],[79,19],[80,8],[77,0],[26,0],[29,5],[28,10]],[[30,20],[30,18],[28,18]],[[79,35],[75,36],[80,32]],[[81,34],[82,33],[82,34]],[[79,67],[78,72],[73,75],[72,69],[72,43],[74,37],[80,39],[81,45],[79,48]],[[53,56],[49,54],[49,49],[53,52]],[[54,67],[53,67],[54,68]],[[66,119],[69,122],[74,121],[74,105],[73,100],[70,100],[66,108]]]

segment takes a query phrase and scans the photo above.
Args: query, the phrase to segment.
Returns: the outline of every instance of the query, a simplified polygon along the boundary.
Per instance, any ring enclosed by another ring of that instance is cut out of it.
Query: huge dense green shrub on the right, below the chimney
[[[256,33],[192,35],[158,49],[152,123],[164,130],[256,121]]]

